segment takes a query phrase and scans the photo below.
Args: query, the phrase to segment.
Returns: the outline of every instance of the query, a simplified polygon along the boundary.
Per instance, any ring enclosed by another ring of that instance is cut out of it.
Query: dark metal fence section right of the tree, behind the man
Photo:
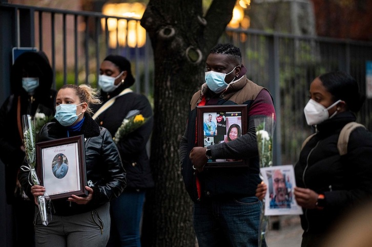
[[[372,43],[253,30],[227,30],[221,38],[240,47],[247,76],[270,89],[277,112],[275,163],[295,164],[304,139],[314,131],[306,125],[303,107],[310,83],[322,73],[345,71],[366,93],[366,61]],[[372,101],[366,99],[358,121],[372,130]]]

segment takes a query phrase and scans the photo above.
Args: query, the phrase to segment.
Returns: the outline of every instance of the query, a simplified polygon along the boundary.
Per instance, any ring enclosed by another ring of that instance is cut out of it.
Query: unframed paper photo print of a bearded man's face
[[[293,165],[272,166],[260,169],[267,185],[265,215],[302,214],[297,205],[293,188],[296,186]]]

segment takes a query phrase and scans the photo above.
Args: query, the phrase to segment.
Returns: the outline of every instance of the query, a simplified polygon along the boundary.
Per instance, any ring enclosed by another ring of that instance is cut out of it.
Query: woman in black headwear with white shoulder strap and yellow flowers
[[[123,56],[109,55],[100,65],[98,85],[102,104],[93,118],[113,137],[128,115],[142,115],[147,121],[116,144],[127,171],[127,188],[111,201],[111,235],[107,246],[141,246],[140,220],[147,189],[154,187],[146,145],[153,128],[152,107],[146,96],[134,93],[131,64]]]

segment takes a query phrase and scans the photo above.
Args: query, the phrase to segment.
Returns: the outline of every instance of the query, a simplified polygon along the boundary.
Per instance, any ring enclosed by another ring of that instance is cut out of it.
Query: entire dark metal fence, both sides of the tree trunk
[[[7,3],[0,4],[0,10],[11,24],[7,45],[45,51],[55,72],[54,87],[67,83],[95,85],[104,57],[120,54],[132,61],[133,73],[137,76],[135,91],[152,97],[154,66],[149,39],[143,47],[120,47],[118,40],[116,48],[109,46],[110,20],[127,24],[135,21],[139,26],[138,19]],[[125,26],[126,30],[117,26],[114,33],[128,40],[129,25]],[[348,72],[358,80],[365,93],[365,62],[372,60],[371,42],[239,29],[226,29],[220,41],[240,47],[247,76],[267,87],[273,95],[277,111],[274,144],[277,165],[294,164],[302,141],[313,131],[306,126],[303,107],[308,100],[309,84],[316,76],[335,70]],[[8,51],[3,48],[2,55]],[[8,83],[3,84],[5,92],[9,92]],[[358,116],[358,121],[370,130],[371,104],[371,100],[366,100]]]

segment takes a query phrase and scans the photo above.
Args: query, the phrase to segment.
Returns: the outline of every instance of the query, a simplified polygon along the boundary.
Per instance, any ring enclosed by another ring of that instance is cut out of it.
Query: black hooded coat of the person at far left
[[[39,86],[34,94],[29,95],[22,87],[23,71],[33,71],[38,76]],[[0,109],[0,159],[5,164],[5,189],[7,203],[14,203],[20,199],[20,193],[14,193],[17,172],[22,165],[25,152],[23,146],[22,115],[44,113],[48,117],[54,115],[54,101],[56,92],[51,89],[53,71],[48,58],[43,52],[26,52],[14,62],[10,74],[12,94],[5,100]],[[19,110],[18,110],[19,109]]]

